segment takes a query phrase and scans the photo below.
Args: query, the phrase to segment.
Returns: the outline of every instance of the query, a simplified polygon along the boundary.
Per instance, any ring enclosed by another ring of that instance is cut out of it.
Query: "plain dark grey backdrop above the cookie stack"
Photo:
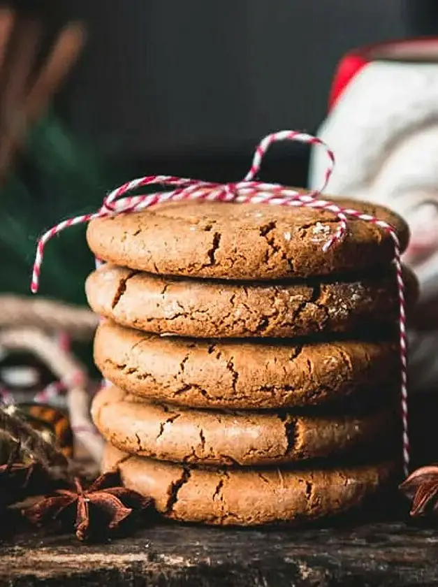
[[[239,177],[266,133],[316,132],[346,51],[435,33],[437,4],[65,1],[63,16],[87,23],[89,44],[60,110],[98,152],[128,161],[134,173]],[[270,164],[279,181],[306,181],[304,147],[275,147]]]

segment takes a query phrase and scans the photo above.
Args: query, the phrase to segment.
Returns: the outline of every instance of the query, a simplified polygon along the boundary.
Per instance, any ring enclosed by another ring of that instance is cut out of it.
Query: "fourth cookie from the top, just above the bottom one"
[[[388,408],[361,417],[324,417],[193,410],[139,402],[108,386],[94,397],[93,421],[117,449],[176,463],[294,463],[365,448],[370,451],[400,436],[396,410]]]

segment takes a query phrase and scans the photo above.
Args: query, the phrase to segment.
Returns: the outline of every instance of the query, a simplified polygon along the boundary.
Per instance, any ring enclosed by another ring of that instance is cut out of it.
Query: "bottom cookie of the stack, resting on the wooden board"
[[[129,456],[107,445],[102,470],[119,466],[123,484],[154,499],[170,519],[221,526],[303,523],[360,505],[388,484],[393,463],[325,470],[193,468]]]

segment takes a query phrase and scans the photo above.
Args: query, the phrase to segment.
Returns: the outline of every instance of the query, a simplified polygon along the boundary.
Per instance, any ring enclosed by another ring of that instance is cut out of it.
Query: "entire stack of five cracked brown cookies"
[[[340,201],[395,227],[392,212]],[[103,470],[171,519],[298,523],[358,506],[400,471],[393,242],[331,212],[189,201],[96,219],[86,285],[108,381]],[[405,275],[409,304],[416,282]]]

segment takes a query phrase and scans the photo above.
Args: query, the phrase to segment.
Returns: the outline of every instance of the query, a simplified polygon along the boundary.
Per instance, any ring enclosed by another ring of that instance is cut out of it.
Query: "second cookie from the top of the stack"
[[[407,304],[416,298],[405,271]],[[317,284],[212,282],[159,277],[106,263],[87,278],[95,312],[152,333],[195,338],[285,338],[360,333],[394,326],[393,270],[357,281]]]

